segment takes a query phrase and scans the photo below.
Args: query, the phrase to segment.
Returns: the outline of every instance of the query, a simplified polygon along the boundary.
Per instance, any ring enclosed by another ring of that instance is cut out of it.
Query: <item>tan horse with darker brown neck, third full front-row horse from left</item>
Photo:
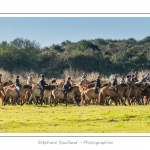
[[[80,95],[80,91],[79,91],[79,87],[78,86],[73,86],[69,89],[68,93],[67,93],[67,99],[64,98],[64,92],[63,90],[53,90],[52,91],[52,95],[54,97],[54,101],[55,101],[55,106],[56,106],[56,101],[58,102],[58,100],[63,100],[66,103],[66,106],[68,104],[68,102],[73,101],[74,103],[76,103],[79,106],[79,102],[77,102],[76,100],[76,96]]]

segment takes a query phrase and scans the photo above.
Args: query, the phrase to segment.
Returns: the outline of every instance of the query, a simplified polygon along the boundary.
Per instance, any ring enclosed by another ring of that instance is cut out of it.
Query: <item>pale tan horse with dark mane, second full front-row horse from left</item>
[[[29,104],[32,103],[32,99],[34,100],[34,104],[38,104],[38,100],[37,98],[40,98],[40,104],[43,104],[43,99],[48,98],[49,100],[51,99],[51,95],[52,95],[52,90],[58,90],[58,85],[57,84],[49,84],[44,86],[44,92],[43,92],[43,96],[41,96],[41,89],[40,86],[38,84],[34,84],[32,87],[32,94],[29,98]]]

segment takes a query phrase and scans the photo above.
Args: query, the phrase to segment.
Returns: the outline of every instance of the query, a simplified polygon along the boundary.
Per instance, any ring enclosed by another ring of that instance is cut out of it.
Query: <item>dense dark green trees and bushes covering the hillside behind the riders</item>
[[[94,39],[40,47],[36,41],[17,38],[0,43],[0,68],[10,71],[35,71],[47,77],[61,77],[65,69],[120,75],[150,68],[150,36],[136,41]]]

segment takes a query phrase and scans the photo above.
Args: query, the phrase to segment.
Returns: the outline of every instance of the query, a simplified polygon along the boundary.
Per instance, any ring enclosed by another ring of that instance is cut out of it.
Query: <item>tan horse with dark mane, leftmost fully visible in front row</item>
[[[27,91],[31,92],[31,89],[32,89],[32,86],[30,86],[30,85],[22,85],[20,88],[20,95],[17,94],[16,89],[13,89],[13,88],[6,89],[5,97],[3,99],[4,106],[7,104],[10,97],[20,99],[20,105],[22,106],[24,104],[24,101],[22,101],[22,100],[23,100],[23,98],[25,98],[26,92]]]

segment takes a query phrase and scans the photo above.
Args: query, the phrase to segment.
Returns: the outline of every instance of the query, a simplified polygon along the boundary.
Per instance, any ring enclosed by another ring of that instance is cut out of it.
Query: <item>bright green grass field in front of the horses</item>
[[[0,106],[0,133],[150,133],[148,106]]]

